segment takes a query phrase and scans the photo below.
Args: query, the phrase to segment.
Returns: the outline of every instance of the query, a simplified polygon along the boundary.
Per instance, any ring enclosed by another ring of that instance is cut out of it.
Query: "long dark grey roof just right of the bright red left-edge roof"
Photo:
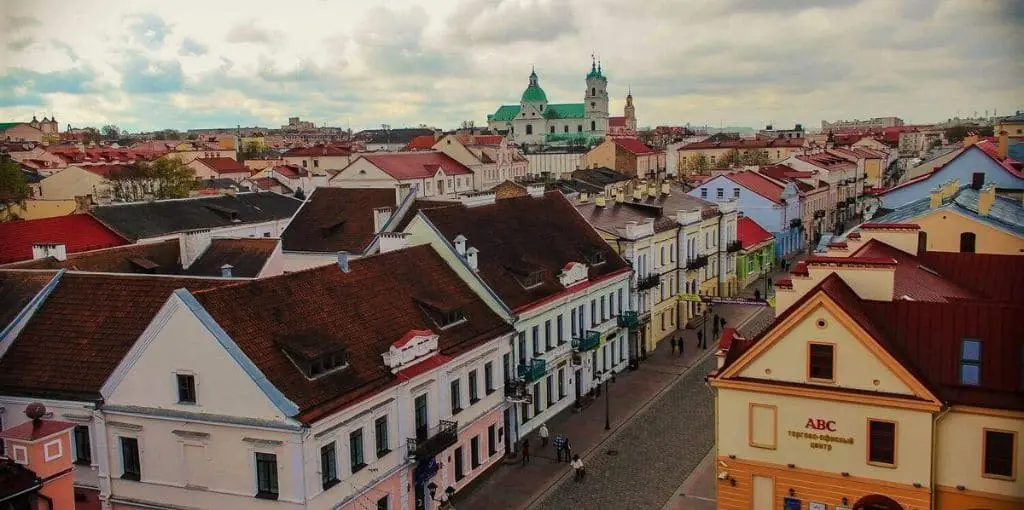
[[[197,228],[290,218],[300,205],[302,201],[292,197],[260,192],[99,206],[89,214],[134,242]]]

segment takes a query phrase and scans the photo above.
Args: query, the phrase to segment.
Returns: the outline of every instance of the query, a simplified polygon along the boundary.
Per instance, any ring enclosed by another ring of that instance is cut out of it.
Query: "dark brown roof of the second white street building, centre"
[[[479,250],[480,277],[513,310],[563,292],[558,272],[569,262],[603,255],[605,262],[590,268],[591,280],[629,268],[559,192],[422,212],[449,242],[462,235],[467,247]],[[543,283],[523,288],[517,275],[538,270]]]

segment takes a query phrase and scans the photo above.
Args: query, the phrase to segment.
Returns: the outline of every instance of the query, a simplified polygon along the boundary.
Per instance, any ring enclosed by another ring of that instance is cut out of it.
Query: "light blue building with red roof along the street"
[[[777,260],[804,250],[800,192],[793,182],[782,184],[757,172],[734,172],[712,177],[689,194],[712,202],[735,200],[737,211],[775,236]]]

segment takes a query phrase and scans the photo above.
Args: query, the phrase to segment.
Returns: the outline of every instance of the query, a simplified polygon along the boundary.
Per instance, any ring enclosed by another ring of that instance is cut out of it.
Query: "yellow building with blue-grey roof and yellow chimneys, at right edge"
[[[938,252],[1024,254],[1024,205],[999,197],[992,184],[961,187],[948,180],[930,197],[911,202],[877,223],[914,223],[920,249]]]

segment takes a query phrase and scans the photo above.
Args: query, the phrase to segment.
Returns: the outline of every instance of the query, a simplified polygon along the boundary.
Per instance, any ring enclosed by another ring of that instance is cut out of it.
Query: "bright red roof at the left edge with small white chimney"
[[[63,244],[68,253],[127,245],[88,214],[0,223],[0,264],[32,259],[34,244]]]

